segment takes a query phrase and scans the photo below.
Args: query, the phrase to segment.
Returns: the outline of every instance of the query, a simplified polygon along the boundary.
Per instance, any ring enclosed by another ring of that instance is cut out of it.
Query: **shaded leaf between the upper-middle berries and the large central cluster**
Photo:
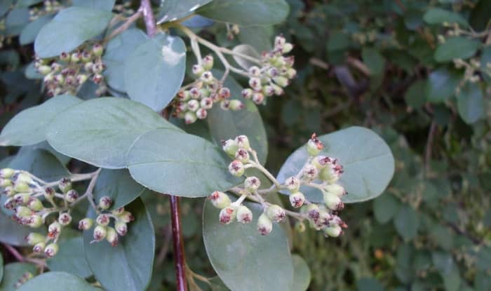
[[[213,70],[213,74],[220,78],[223,73]],[[268,140],[256,104],[240,97],[243,88],[231,76],[227,77],[224,86],[230,89],[232,99],[240,99],[244,102],[245,107],[239,111],[226,111],[218,106],[208,110],[207,122],[213,140],[220,144],[222,140],[234,139],[238,135],[247,135],[250,146],[257,151],[260,161],[265,163],[268,155]]]

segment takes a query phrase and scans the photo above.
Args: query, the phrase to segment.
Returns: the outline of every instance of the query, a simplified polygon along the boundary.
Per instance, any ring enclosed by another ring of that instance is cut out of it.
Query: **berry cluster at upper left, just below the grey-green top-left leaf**
[[[101,57],[103,52],[102,45],[96,43],[74,53],[61,53],[55,58],[36,58],[34,66],[44,76],[48,96],[65,93],[75,95],[88,79],[99,85],[95,91],[97,95],[104,94],[107,86],[102,76],[105,69]]]

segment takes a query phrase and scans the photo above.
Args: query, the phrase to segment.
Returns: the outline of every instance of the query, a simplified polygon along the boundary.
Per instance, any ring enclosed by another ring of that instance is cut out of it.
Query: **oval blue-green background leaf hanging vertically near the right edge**
[[[457,109],[466,123],[476,123],[484,117],[483,90],[475,83],[466,83],[457,95]]]

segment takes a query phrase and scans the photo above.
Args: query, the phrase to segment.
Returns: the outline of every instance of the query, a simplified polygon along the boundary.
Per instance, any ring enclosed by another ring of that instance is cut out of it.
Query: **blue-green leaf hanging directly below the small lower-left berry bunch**
[[[152,276],[155,236],[152,220],[140,198],[125,207],[135,217],[128,234],[112,247],[107,241],[93,241],[92,231],[83,233],[83,250],[95,278],[107,290],[146,290]],[[95,217],[93,210],[88,217]]]

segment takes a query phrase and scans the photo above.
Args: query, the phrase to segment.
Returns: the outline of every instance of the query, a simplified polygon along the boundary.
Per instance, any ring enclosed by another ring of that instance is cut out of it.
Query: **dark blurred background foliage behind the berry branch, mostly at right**
[[[354,125],[377,131],[396,158],[389,189],[344,210],[344,236],[294,231],[292,252],[309,266],[310,289],[491,290],[491,2],[288,3],[288,19],[276,27],[241,27],[234,39],[223,24],[205,28],[209,39],[230,48],[240,41],[267,49],[275,32],[295,44],[297,79],[283,97],[260,107],[268,168],[278,172],[311,133]],[[12,13],[0,22],[1,126],[43,100],[29,67],[32,46],[18,37],[29,15]],[[1,148],[0,157],[15,151]],[[168,201],[142,197],[159,246],[149,290],[173,290]],[[193,271],[211,277],[202,203],[182,202],[185,248]],[[0,224],[0,234],[7,231]]]

